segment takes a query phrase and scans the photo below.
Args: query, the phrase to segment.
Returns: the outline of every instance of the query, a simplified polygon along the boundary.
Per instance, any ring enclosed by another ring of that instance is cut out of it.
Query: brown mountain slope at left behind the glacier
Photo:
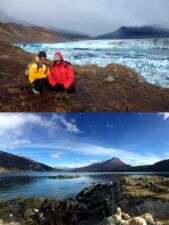
[[[18,43],[57,43],[79,39],[88,39],[85,34],[75,34],[34,25],[0,21],[0,40],[12,44]]]

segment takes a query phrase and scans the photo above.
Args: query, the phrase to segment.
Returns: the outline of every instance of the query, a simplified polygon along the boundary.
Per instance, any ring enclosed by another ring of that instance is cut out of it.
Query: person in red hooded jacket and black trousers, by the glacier
[[[67,98],[69,98],[69,94],[75,93],[75,76],[72,65],[64,61],[61,52],[56,52],[54,55],[48,82],[57,93],[65,91]]]

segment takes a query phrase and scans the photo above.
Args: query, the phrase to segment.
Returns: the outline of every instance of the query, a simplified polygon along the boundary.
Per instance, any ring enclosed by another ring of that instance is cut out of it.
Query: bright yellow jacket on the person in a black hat
[[[29,67],[29,82],[32,84],[37,79],[46,78],[50,68],[45,64],[32,63]]]

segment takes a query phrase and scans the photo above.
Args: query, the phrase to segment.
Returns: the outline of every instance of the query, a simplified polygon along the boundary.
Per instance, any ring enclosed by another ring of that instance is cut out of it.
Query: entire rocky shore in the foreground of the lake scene
[[[169,178],[122,178],[76,198],[18,199],[0,204],[1,225],[169,225]]]

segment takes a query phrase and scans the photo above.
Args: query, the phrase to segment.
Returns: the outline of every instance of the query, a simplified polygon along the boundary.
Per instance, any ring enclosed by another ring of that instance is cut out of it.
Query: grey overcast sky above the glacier
[[[15,19],[89,35],[120,26],[169,26],[168,0],[0,0],[0,9]]]

